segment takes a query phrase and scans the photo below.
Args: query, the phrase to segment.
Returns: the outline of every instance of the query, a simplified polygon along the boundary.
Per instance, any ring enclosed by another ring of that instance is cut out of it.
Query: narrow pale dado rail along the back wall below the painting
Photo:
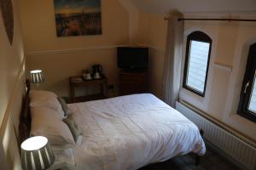
[[[128,47],[128,46],[129,45],[113,45],[113,46],[102,46],[102,47],[92,47],[92,48],[70,48],[70,49],[53,49],[53,50],[44,50],[44,51],[32,51],[32,52],[27,52],[26,56],[43,55],[43,54],[78,53],[81,51],[88,51],[88,50],[108,50],[111,48]]]

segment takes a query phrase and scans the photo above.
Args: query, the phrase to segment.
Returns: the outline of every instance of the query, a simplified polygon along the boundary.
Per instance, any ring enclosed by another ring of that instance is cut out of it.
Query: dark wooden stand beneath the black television
[[[119,88],[120,95],[148,93],[148,71],[119,71]]]

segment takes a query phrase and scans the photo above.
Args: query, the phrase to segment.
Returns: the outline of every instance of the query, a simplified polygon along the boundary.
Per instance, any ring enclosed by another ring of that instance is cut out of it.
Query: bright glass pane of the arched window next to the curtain
[[[187,85],[203,93],[205,88],[209,42],[190,42]]]

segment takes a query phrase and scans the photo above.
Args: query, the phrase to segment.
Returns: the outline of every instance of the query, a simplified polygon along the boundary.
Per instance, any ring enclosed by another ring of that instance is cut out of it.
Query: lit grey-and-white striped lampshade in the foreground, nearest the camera
[[[55,156],[48,139],[43,136],[26,139],[21,144],[21,161],[23,169],[26,170],[49,168],[55,161]]]

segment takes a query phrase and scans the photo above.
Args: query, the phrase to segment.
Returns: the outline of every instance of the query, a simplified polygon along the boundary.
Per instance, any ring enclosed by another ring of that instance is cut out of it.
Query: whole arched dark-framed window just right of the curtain
[[[187,37],[183,88],[205,96],[207,73],[212,48],[212,39],[201,31],[194,31]]]

